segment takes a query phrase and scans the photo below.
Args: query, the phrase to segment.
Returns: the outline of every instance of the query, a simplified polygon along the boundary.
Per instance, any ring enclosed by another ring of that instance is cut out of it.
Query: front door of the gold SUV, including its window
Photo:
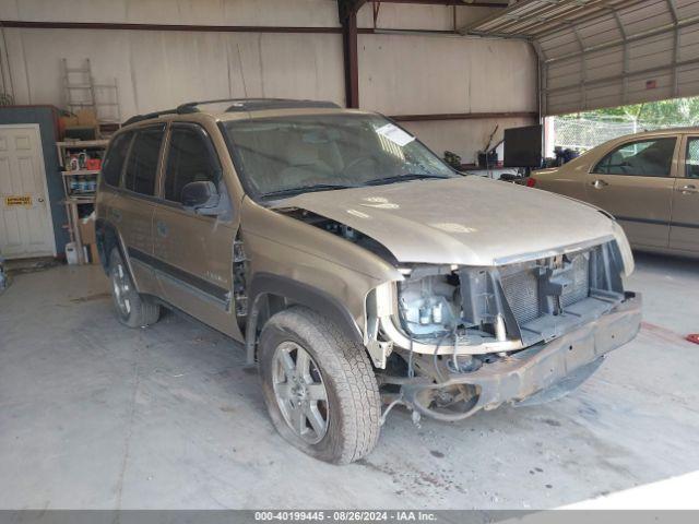
[[[237,226],[230,217],[203,216],[181,204],[191,182],[211,181],[226,194],[211,140],[199,126],[173,123],[165,158],[154,217],[158,283],[173,306],[241,340],[230,293]]]

